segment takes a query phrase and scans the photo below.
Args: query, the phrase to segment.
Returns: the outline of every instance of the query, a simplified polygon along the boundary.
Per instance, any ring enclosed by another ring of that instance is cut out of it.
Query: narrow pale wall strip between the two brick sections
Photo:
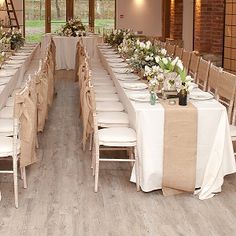
[[[183,0],[183,41],[187,51],[193,50],[193,0]]]

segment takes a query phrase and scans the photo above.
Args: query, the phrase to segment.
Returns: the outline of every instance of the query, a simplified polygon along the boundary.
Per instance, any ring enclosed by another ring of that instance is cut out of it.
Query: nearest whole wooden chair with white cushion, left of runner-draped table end
[[[98,191],[99,165],[100,162],[131,162],[135,163],[136,187],[139,186],[139,161],[137,156],[136,133],[128,127],[110,127],[98,129],[96,102],[91,93],[92,87],[87,91],[87,96],[91,97],[91,109],[93,115],[93,152],[92,152],[92,168],[95,176],[94,191]],[[101,158],[100,152],[104,150],[127,150],[131,154],[131,158]]]

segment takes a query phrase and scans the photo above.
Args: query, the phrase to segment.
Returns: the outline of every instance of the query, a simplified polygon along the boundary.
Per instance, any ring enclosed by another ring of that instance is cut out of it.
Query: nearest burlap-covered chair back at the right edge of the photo
[[[217,100],[226,107],[229,122],[232,121],[233,104],[235,101],[235,90],[236,75],[223,71],[218,80]]]

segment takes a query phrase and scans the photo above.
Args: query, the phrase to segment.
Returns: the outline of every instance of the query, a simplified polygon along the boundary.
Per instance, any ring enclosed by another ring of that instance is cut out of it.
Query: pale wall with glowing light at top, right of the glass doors
[[[116,27],[161,36],[162,0],[117,0]]]

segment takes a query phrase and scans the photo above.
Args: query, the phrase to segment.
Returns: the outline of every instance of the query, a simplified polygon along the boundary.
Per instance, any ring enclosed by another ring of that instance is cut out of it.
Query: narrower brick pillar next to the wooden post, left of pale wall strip
[[[170,1],[170,38],[182,39],[183,0]]]

